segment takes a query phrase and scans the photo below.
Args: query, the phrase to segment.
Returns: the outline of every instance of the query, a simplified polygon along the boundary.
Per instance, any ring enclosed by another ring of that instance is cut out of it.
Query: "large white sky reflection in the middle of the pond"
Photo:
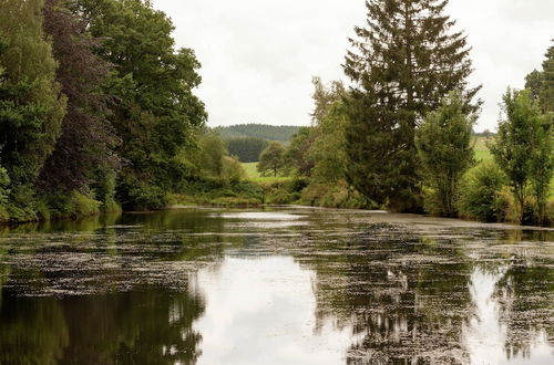
[[[198,364],[343,364],[350,331],[328,324],[315,333],[314,275],[284,257],[227,258],[202,270]]]

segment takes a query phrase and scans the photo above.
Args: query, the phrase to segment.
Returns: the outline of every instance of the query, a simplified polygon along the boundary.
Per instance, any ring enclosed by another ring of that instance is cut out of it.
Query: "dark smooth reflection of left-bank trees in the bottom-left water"
[[[64,298],[4,295],[0,364],[194,364],[205,304],[194,291]],[[24,356],[22,356],[24,354]]]

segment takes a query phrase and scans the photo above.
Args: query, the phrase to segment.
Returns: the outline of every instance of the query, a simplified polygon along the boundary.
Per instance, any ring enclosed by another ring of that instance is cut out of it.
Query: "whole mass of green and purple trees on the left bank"
[[[143,0],[0,2],[0,221],[155,209],[244,174],[173,29]]]

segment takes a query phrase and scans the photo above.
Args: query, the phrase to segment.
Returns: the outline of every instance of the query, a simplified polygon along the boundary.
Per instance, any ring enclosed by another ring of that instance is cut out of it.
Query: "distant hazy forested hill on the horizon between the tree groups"
[[[243,163],[258,161],[259,155],[270,140],[288,145],[299,129],[299,126],[267,124],[238,124],[214,128],[225,139],[229,155],[238,157]]]

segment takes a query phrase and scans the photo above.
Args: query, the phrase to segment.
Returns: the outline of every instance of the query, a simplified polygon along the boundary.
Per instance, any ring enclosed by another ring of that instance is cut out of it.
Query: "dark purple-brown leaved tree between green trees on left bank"
[[[119,167],[114,154],[119,138],[106,119],[107,97],[101,93],[110,67],[93,53],[99,42],[85,28],[60,0],[47,0],[44,29],[59,63],[57,80],[68,97],[61,136],[40,177],[41,187],[49,191],[83,191],[91,182],[103,184]]]

